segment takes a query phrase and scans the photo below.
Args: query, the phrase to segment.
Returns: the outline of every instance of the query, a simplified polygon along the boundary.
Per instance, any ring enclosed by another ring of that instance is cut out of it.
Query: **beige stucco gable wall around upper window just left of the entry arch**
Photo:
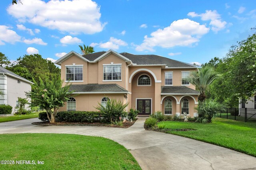
[[[121,66],[121,81],[103,81],[103,64],[122,64]],[[118,84],[126,88],[126,61],[120,57],[110,54],[98,62],[98,84]]]

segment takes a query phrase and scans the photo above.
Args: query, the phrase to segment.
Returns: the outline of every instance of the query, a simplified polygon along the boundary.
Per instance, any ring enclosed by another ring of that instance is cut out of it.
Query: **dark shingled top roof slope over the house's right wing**
[[[196,68],[196,66],[193,65],[193,64],[184,63],[184,62],[181,62],[181,61],[169,59],[169,58],[162,57],[162,56],[159,56],[159,55],[138,55],[138,56],[144,57],[146,59],[151,59],[151,60],[154,60],[154,61],[158,61],[158,62],[161,62],[161,63],[165,63],[168,67],[194,67],[194,68]]]

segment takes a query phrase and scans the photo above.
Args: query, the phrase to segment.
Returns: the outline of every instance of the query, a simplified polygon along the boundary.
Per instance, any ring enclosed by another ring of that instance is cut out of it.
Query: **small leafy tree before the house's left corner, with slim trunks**
[[[59,76],[52,76],[51,80],[46,78],[44,81],[39,77],[39,82],[34,79],[33,82],[32,91],[26,92],[31,98],[31,105],[45,109],[50,123],[54,123],[59,107],[64,106],[64,102],[67,102],[72,94],[72,91],[69,92],[71,84],[62,86],[63,80]]]

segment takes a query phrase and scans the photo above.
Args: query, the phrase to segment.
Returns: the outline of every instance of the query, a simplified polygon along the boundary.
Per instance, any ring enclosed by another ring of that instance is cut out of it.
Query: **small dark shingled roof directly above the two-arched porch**
[[[161,95],[199,95],[200,93],[196,90],[188,88],[186,86],[162,86]]]

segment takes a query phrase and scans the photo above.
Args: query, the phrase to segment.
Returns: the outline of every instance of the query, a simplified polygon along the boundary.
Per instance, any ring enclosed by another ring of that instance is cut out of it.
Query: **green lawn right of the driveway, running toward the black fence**
[[[160,122],[171,129],[196,129],[196,131],[167,131],[206,143],[237,150],[256,157],[256,123],[215,118],[213,123]]]

